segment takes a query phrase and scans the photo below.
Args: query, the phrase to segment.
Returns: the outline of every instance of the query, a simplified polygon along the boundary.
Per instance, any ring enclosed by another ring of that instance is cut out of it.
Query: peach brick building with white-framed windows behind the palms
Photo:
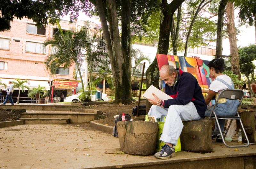
[[[76,23],[60,21],[63,30],[76,28]],[[46,56],[52,53],[52,47],[43,47],[43,42],[52,38],[58,31],[57,25],[47,25],[36,27],[32,20],[24,18],[14,19],[11,22],[11,29],[0,32],[0,78],[2,82],[14,81],[16,78],[27,79],[30,81],[29,88],[44,86],[50,90],[50,81],[54,79],[73,79],[74,66],[62,68],[56,71],[56,75],[51,76],[44,67]],[[3,86],[1,87],[3,89]],[[4,94],[4,93],[3,93]],[[27,92],[21,93],[27,97]],[[71,95],[72,90],[66,91],[64,95]],[[17,95],[14,91],[13,96]]]

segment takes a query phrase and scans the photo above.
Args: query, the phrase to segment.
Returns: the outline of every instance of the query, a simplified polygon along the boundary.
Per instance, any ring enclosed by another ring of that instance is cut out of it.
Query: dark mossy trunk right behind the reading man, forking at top
[[[172,16],[174,12],[185,0],[173,0],[170,4],[167,4],[166,0],[162,0],[161,3],[161,19],[160,19],[160,31],[157,53],[167,54],[169,50],[170,31],[172,24]],[[156,57],[146,71],[146,86],[153,85],[158,88],[159,81],[159,69]],[[146,111],[151,107],[151,104],[147,101]]]

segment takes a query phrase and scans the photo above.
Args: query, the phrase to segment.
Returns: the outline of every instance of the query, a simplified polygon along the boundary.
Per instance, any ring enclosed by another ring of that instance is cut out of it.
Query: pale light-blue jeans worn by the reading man
[[[192,102],[186,105],[171,105],[169,108],[153,105],[148,115],[155,116],[159,122],[164,122],[163,116],[166,116],[163,134],[160,140],[174,145],[177,144],[180,137],[183,128],[182,121],[199,120],[201,118]]]

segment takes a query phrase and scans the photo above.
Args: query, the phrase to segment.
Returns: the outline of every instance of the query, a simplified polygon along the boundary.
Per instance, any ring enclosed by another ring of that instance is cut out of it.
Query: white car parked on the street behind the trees
[[[99,90],[96,90],[96,91],[100,92]],[[79,95],[81,95],[81,92],[77,93],[76,95],[68,96],[64,99],[64,102],[81,102],[81,100],[79,99]],[[108,95],[105,93],[101,92],[100,98],[97,98],[96,96],[97,96],[97,93],[95,95],[91,95],[92,101],[105,101],[105,102],[108,101]]]

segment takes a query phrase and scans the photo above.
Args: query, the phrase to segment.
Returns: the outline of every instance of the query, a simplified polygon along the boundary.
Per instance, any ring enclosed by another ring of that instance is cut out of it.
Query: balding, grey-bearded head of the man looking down
[[[177,71],[173,66],[164,65],[161,67],[159,75],[165,84],[173,86],[175,77],[177,76]]]

